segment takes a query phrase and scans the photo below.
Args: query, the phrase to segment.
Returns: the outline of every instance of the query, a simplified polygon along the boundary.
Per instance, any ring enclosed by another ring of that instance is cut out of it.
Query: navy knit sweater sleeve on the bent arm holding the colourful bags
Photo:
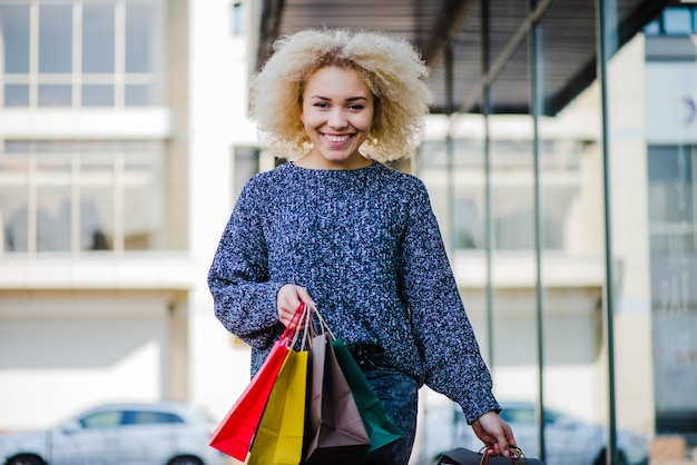
[[[216,317],[257,349],[271,346],[282,330],[276,294],[284,284],[268,279],[264,190],[254,179],[245,186],[208,271]]]

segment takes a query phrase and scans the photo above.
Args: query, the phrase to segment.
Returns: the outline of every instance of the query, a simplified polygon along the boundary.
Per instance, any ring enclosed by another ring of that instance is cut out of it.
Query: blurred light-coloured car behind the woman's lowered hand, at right
[[[518,446],[528,457],[539,457],[539,427],[534,404],[502,403],[501,417],[513,428]],[[573,418],[554,409],[544,409],[544,448],[547,465],[605,465],[607,427]],[[445,452],[455,447],[479,451],[481,441],[465,423],[455,404],[431,408],[425,417],[425,441],[420,464],[434,464]],[[649,442],[644,434],[618,429],[618,463],[648,464]]]

